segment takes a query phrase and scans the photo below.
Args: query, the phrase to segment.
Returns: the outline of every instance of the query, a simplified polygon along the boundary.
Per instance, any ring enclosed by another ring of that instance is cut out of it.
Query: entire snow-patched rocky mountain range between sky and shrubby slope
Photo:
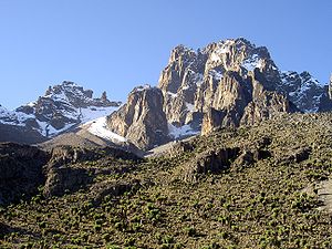
[[[264,46],[228,39],[170,52],[157,86],[135,87],[124,105],[94,98],[64,81],[13,112],[0,110],[0,141],[148,151],[222,127],[258,124],[282,113],[332,110],[331,83],[281,71]],[[141,153],[141,152],[139,152]]]

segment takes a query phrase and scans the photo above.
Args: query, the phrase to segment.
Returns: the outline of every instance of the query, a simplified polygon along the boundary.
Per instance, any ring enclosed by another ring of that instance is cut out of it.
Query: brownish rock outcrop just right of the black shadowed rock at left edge
[[[96,162],[102,158],[128,159],[138,162],[136,155],[114,147],[86,149],[71,146],[59,146],[52,149],[52,157],[44,168],[46,181],[44,196],[62,196],[76,191],[91,184],[93,177],[100,174],[113,174],[127,170],[127,167],[116,168],[82,168],[75,164]],[[100,163],[101,164],[101,163]]]

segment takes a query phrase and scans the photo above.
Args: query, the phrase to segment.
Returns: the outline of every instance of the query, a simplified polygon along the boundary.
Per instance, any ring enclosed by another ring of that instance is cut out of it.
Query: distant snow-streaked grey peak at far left
[[[0,141],[40,143],[79,124],[105,116],[118,108],[120,104],[108,101],[105,92],[100,98],[93,98],[93,91],[64,81],[50,86],[35,102],[15,111],[0,106]],[[25,135],[18,136],[15,131]]]

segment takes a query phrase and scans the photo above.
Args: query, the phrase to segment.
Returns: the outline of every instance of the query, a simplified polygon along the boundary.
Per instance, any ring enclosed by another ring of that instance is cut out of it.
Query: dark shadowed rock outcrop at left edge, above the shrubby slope
[[[86,149],[59,146],[45,152],[30,145],[2,143],[0,206],[29,199],[37,194],[43,194],[44,197],[62,196],[85,188],[96,175],[131,170],[132,166],[126,164],[111,166],[110,162],[114,160],[138,163],[142,159],[116,147]]]

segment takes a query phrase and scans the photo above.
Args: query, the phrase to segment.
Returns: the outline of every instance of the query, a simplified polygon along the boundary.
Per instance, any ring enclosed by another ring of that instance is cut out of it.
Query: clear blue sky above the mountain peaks
[[[170,50],[243,37],[281,70],[332,73],[332,0],[0,0],[0,104],[74,81],[125,100],[157,84]]]

